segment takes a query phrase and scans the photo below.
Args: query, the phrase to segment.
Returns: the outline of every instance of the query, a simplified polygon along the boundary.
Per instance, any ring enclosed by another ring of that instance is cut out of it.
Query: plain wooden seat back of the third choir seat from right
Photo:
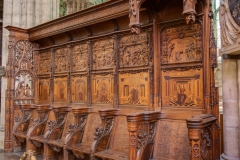
[[[82,139],[82,143],[88,144],[91,146],[93,140],[94,140],[94,133],[96,127],[100,127],[101,125],[101,119],[99,114],[97,113],[91,113],[87,117],[87,123],[84,129],[84,135]]]

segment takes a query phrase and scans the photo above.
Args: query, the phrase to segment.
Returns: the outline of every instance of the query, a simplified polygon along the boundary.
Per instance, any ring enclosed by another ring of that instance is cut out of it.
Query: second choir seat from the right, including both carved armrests
[[[91,159],[136,160],[150,157],[160,112],[127,115],[121,110],[100,110],[102,126],[96,129]],[[105,141],[105,143],[104,143]],[[104,147],[102,143],[106,144]]]

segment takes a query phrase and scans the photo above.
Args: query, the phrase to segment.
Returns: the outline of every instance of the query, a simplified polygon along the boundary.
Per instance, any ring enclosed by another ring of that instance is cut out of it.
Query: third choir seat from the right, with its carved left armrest
[[[64,159],[69,159],[71,153],[79,159],[90,159],[95,129],[101,125],[100,116],[98,111],[92,108],[73,108],[72,112],[76,117],[76,124],[69,124],[64,144]]]

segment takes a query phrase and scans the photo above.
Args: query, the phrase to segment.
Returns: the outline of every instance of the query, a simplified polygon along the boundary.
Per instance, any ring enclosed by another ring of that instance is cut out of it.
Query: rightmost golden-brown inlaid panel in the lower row
[[[162,103],[168,107],[201,107],[202,69],[162,73]]]

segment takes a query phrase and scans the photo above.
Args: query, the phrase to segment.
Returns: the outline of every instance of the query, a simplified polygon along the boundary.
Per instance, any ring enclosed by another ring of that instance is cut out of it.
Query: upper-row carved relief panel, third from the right
[[[106,39],[93,44],[92,66],[94,70],[112,68],[114,65],[114,40]]]

